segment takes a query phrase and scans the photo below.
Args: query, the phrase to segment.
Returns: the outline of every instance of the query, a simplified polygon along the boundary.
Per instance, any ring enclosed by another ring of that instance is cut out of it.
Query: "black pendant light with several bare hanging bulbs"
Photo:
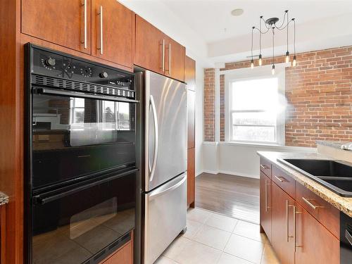
[[[262,30],[262,22],[264,21],[265,29]],[[275,74],[275,30],[284,30],[286,29],[286,34],[287,34],[287,51],[285,54],[285,62],[289,63],[290,61],[290,54],[289,54],[289,25],[291,22],[294,23],[294,60],[292,61],[292,66],[297,65],[297,58],[296,58],[296,20],[292,18],[289,20],[289,11],[286,10],[284,11],[284,18],[282,20],[281,25],[277,25],[277,22],[279,22],[279,18],[268,18],[267,20],[264,20],[263,15],[260,15],[259,18],[259,28],[253,26],[252,27],[252,45],[251,45],[251,68],[254,68],[254,61],[253,61],[253,32],[254,30],[258,30],[259,32],[259,59],[258,59],[258,65],[261,66],[263,64],[263,55],[262,55],[262,45],[261,45],[261,40],[262,40],[262,34],[268,33],[270,30],[272,31],[272,74]]]

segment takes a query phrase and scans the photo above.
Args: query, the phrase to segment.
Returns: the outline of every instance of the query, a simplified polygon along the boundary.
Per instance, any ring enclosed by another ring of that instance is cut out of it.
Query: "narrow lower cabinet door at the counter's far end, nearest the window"
[[[260,171],[260,225],[271,241],[271,180]]]

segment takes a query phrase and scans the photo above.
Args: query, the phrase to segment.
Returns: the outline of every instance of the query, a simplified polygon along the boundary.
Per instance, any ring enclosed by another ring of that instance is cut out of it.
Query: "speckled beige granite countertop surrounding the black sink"
[[[287,153],[287,152],[272,152],[272,151],[258,151],[259,156],[268,159],[275,167],[280,168],[287,172],[287,175],[291,176],[305,186],[306,188],[313,191],[315,194],[318,194],[322,199],[331,203],[334,207],[338,208],[342,212],[346,213],[352,217],[352,197],[342,197],[338,194],[335,194],[333,191],[330,191],[326,187],[323,187],[322,184],[311,180],[310,178],[304,176],[300,172],[289,168],[287,165],[277,161],[277,158],[307,158],[307,159],[322,159],[322,160],[332,160],[320,153]]]

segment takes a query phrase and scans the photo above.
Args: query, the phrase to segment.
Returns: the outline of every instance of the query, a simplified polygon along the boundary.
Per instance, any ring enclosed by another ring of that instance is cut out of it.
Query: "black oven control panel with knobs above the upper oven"
[[[45,49],[32,49],[31,73],[79,82],[91,82],[122,89],[133,89],[132,73],[108,68]]]

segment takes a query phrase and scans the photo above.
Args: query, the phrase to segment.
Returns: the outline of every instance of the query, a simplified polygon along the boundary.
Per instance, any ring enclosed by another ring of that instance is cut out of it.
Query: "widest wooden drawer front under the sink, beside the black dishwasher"
[[[324,225],[327,230],[332,232],[335,237],[339,238],[339,209],[298,182],[296,182],[296,201]]]

